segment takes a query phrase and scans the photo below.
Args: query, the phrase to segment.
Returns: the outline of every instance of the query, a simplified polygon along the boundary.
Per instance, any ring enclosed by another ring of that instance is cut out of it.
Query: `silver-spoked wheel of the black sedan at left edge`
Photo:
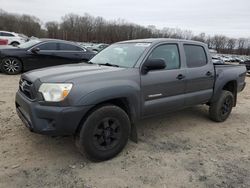
[[[15,75],[22,71],[22,62],[15,57],[4,58],[0,65],[1,71],[5,74]]]

